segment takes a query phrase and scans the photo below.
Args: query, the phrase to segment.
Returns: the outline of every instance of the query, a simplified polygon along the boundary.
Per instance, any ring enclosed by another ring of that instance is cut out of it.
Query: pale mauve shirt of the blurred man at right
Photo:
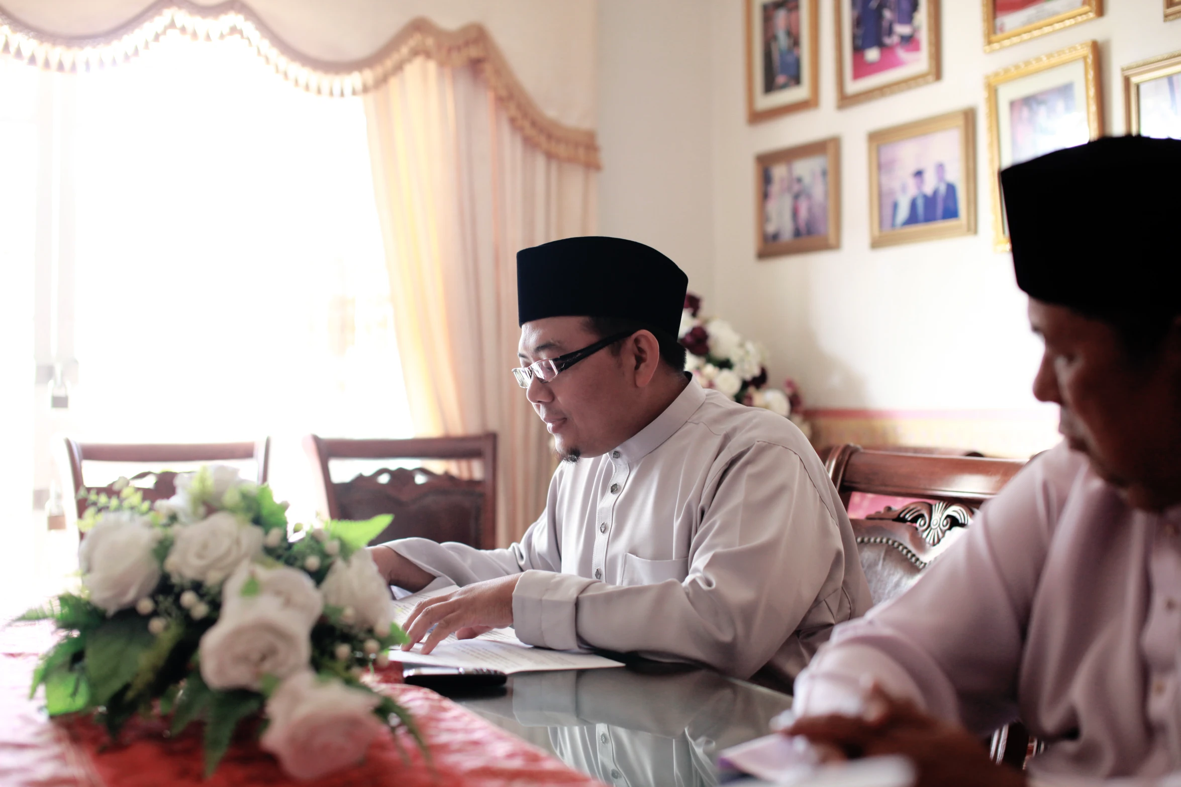
[[[1046,742],[1038,783],[1181,770],[1179,529],[1181,506],[1131,509],[1058,446],[912,590],[837,629],[797,709],[836,708],[872,675],[981,735],[1020,715]]]

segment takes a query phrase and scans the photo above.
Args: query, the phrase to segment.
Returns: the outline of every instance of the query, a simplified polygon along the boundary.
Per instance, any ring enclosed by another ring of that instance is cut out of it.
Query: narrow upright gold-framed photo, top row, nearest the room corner
[[[817,0],[746,4],[746,120],[820,105]]]

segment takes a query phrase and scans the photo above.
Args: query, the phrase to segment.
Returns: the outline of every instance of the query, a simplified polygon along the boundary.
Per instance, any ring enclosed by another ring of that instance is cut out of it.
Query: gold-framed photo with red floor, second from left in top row
[[[939,0],[833,0],[836,105],[939,79]]]

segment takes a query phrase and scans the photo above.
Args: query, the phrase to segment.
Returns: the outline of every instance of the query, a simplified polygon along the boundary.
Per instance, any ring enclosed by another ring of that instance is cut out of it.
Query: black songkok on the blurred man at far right
[[[1108,137],[1000,173],[1017,286],[1102,316],[1181,311],[1181,140]]]

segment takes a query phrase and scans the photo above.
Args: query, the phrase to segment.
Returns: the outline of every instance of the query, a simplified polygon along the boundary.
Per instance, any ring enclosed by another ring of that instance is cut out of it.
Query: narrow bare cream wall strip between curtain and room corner
[[[713,290],[710,0],[599,0],[599,230]]]

